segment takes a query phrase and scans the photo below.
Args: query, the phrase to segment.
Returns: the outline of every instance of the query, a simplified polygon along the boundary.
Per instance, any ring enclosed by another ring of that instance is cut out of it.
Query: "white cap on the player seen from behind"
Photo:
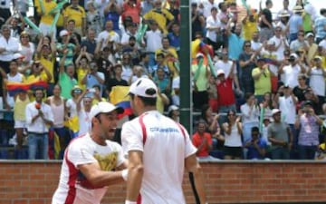
[[[156,98],[158,96],[158,87],[150,79],[140,78],[131,84],[129,93],[147,98]]]

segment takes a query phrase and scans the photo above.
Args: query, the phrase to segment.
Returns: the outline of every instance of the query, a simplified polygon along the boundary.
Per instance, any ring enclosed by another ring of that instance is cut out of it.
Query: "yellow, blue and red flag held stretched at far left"
[[[32,83],[13,83],[13,82],[6,83],[6,88],[10,96],[14,96],[18,92],[27,92],[29,90],[34,90],[36,88],[46,89],[47,87],[48,84],[43,81],[35,81]]]

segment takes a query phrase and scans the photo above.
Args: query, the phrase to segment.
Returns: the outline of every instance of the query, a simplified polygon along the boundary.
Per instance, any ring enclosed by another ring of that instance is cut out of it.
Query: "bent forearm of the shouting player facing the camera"
[[[127,178],[127,170],[120,171],[104,171],[101,170],[98,162],[86,163],[78,165],[79,170],[85,178],[91,182],[95,188],[103,186],[110,186],[113,184],[121,183]]]

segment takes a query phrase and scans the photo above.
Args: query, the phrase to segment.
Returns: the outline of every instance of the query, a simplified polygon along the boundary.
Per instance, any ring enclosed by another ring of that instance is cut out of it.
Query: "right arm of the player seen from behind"
[[[196,154],[191,154],[185,160],[186,170],[194,174],[195,186],[200,199],[200,203],[206,203],[206,192],[201,167],[197,162]]]

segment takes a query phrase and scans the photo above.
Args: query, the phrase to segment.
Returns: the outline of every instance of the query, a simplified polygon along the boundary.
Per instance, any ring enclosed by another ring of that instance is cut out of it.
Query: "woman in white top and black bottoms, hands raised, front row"
[[[243,133],[243,126],[241,117],[236,116],[234,111],[227,112],[227,122],[222,125],[225,133],[224,154],[225,160],[241,160],[243,159],[243,144],[241,135]]]

